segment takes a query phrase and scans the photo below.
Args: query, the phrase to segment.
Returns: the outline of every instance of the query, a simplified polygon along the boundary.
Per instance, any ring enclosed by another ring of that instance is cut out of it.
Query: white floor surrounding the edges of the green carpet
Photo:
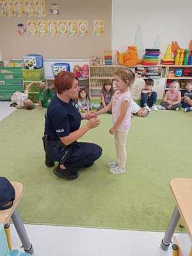
[[[0,102],[0,120],[14,111],[10,102]],[[171,214],[171,212],[170,212]],[[163,232],[141,232],[102,228],[58,227],[25,225],[35,250],[34,256],[168,256],[171,248],[164,252],[160,248]],[[20,248],[19,237],[14,226],[13,248]],[[188,234],[176,234],[186,252],[189,251]]]

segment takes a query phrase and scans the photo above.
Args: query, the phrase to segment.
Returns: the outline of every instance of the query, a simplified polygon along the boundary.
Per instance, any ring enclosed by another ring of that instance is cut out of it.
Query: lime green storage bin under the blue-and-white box
[[[44,68],[22,69],[24,81],[42,81],[44,79]]]

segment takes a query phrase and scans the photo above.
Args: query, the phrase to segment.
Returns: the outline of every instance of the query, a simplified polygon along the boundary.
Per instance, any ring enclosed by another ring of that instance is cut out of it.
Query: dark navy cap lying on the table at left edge
[[[15,189],[8,179],[0,177],[0,210],[12,207],[15,199]]]

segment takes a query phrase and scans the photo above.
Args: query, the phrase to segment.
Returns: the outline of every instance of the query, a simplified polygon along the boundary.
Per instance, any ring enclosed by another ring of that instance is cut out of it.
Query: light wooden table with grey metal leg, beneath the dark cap
[[[23,193],[23,185],[20,182],[11,182],[13,187],[15,188],[15,200],[13,202],[13,206],[10,209],[0,211],[0,224],[4,225],[6,236],[8,240],[8,245],[11,249],[11,241],[10,241],[10,218],[12,218],[15,229],[17,230],[17,234],[20,237],[20,241],[22,243],[22,247],[28,253],[33,253],[33,246],[29,241],[28,234],[24,228],[22,220],[20,220],[19,213],[16,210],[17,205],[20,201],[20,196]]]

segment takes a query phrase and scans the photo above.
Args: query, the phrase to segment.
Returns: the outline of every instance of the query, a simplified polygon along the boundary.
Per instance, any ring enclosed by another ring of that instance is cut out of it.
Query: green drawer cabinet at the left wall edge
[[[0,67],[0,100],[11,100],[14,92],[24,92],[22,68]]]

